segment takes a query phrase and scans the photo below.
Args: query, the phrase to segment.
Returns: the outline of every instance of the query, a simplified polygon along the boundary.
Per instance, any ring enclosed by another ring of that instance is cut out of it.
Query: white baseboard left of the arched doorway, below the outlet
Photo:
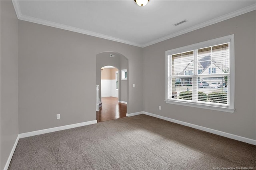
[[[33,132],[26,132],[26,133],[21,133],[20,138],[26,138],[26,137],[30,137],[30,136],[35,136],[38,134],[45,134],[45,133],[50,133],[50,132],[56,132],[59,130],[66,130],[66,129],[70,129],[70,128],[76,128],[76,127],[82,127],[82,126],[86,126],[86,125],[92,125],[97,123],[96,120],[94,121],[88,121],[88,122],[82,122],[82,123],[76,123],[76,124],[72,124],[72,125],[66,125],[66,126],[61,126],[61,127],[54,127],[54,128],[47,128],[47,129],[43,129],[43,130],[36,130]]]

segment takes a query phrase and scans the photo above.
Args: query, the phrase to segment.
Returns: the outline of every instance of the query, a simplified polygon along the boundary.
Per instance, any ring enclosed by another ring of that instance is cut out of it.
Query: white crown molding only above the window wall
[[[218,18],[214,18],[214,19],[209,20],[209,21],[207,21],[207,22],[204,22],[204,23],[202,23],[202,24],[198,24],[197,26],[192,26],[192,27],[187,28],[187,29],[185,29],[185,30],[181,30],[181,31],[176,32],[176,33],[174,33],[174,34],[170,34],[170,35],[168,35],[168,36],[164,36],[164,37],[159,38],[159,39],[156,39],[156,40],[154,40],[154,41],[152,41],[152,42],[145,43],[145,44],[142,45],[142,47],[147,47],[147,46],[149,46],[149,45],[153,45],[153,44],[155,44],[155,43],[159,43],[159,42],[168,40],[168,39],[170,39],[170,38],[174,38],[174,37],[176,37],[176,36],[180,36],[180,35],[182,35],[182,34],[186,34],[186,33],[188,33],[188,32],[192,32],[192,31],[194,31],[194,30],[198,30],[198,29],[200,29],[200,28],[204,28],[204,27],[206,27],[206,26],[210,26],[210,25],[212,25],[212,24],[216,24],[216,23],[218,23],[218,22],[222,22],[222,21],[228,20],[228,19],[230,19],[230,18],[234,18],[234,17],[236,17],[236,16],[245,14],[245,13],[247,13],[247,12],[251,12],[251,11],[253,11],[253,10],[256,10],[256,4],[253,4],[253,5],[251,5],[251,6],[242,8],[242,9],[237,10],[237,11],[235,11],[235,12],[231,12],[231,13],[226,14],[226,15],[224,15],[224,16],[220,16],[220,17],[218,17]]]

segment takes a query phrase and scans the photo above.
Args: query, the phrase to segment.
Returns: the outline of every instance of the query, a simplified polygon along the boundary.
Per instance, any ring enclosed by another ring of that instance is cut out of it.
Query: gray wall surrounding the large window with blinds
[[[150,45],[143,49],[144,111],[256,139],[256,12]],[[225,113],[165,103],[165,51],[235,34],[235,111]],[[162,110],[158,110],[162,106]]]

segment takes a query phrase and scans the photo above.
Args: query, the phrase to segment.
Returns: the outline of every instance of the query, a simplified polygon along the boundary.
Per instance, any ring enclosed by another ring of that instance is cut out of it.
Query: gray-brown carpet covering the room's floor
[[[256,146],[147,115],[19,140],[10,170],[253,167]]]

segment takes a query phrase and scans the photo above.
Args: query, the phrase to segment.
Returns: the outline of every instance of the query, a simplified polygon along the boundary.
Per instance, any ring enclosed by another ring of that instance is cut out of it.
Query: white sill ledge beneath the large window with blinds
[[[229,112],[229,113],[234,113],[234,110],[235,110],[235,109],[232,109],[232,108],[210,106],[210,105],[204,105],[204,104],[201,104],[201,103],[188,103],[188,102],[170,101],[170,100],[166,100],[165,102],[168,103],[168,104],[182,105],[182,106],[189,106],[189,107],[197,107],[197,108],[201,108],[201,109],[209,109],[209,110]]]

